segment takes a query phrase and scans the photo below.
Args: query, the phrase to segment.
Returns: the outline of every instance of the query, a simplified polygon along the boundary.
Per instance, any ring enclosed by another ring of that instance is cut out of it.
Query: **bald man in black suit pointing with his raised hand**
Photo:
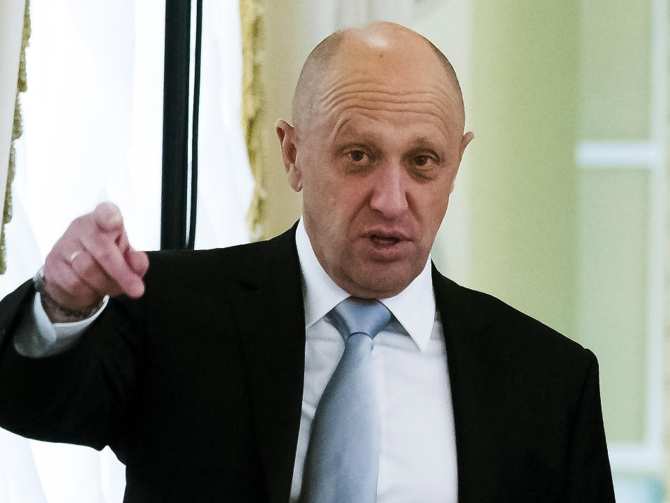
[[[278,238],[147,256],[114,205],[73,222],[1,303],[0,425],[111,446],[129,503],[315,501],[306,455],[345,348],[333,309],[353,298],[391,313],[371,360],[378,454],[354,467],[376,490],[318,501],[613,502],[593,353],[430,261],[472,140],[449,61],[396,24],[340,31],[292,115],[276,132],[303,214]]]

